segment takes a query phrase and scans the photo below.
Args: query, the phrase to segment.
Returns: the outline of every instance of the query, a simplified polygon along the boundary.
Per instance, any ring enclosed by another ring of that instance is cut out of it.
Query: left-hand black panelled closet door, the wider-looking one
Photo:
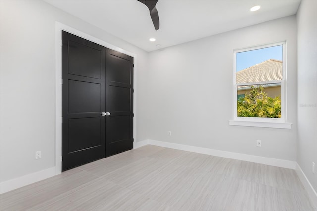
[[[105,158],[106,48],[62,32],[62,171]]]

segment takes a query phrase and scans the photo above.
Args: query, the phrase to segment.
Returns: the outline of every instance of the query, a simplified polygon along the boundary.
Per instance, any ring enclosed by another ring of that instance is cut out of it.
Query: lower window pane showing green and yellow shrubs
[[[281,118],[281,83],[237,86],[237,96],[237,116]]]

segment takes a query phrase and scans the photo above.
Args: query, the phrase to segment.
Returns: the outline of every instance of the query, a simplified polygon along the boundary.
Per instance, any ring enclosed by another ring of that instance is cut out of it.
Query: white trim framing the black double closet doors
[[[94,43],[97,43],[99,45],[102,45],[106,48],[115,50],[117,52],[120,53],[124,53],[126,55],[129,55],[131,57],[133,57],[133,64],[134,64],[134,68],[133,68],[133,113],[134,113],[134,118],[133,118],[133,138],[134,140],[137,140],[137,124],[136,124],[136,118],[137,118],[137,55],[135,53],[131,53],[129,51],[126,51],[124,49],[121,49],[117,46],[114,46],[110,43],[107,43],[103,40],[100,40],[96,37],[93,37],[89,34],[86,34],[82,31],[79,31],[75,28],[72,28],[68,25],[65,25],[63,23],[60,22],[55,22],[55,82],[56,82],[56,89],[55,89],[55,96],[56,96],[56,105],[55,105],[55,174],[61,174],[61,156],[62,156],[62,152],[61,152],[61,146],[62,146],[62,133],[61,133],[61,122],[62,122],[62,88],[61,88],[61,84],[62,84],[62,57],[61,57],[61,52],[62,52],[62,39],[61,39],[61,31],[66,31],[69,32],[71,34],[77,35],[81,38],[84,38],[86,40],[92,41]]]

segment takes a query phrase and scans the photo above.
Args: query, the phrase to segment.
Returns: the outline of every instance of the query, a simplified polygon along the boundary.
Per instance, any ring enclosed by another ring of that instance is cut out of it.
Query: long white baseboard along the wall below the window
[[[161,147],[173,148],[177,150],[185,150],[185,151],[190,151],[195,153],[201,153],[201,154],[206,154],[211,156],[218,156],[223,158],[231,158],[231,159],[243,160],[248,162],[261,163],[265,165],[272,165],[272,166],[277,166],[282,168],[295,169],[295,163],[296,163],[295,161],[290,161],[290,160],[267,158],[267,157],[254,156],[254,155],[248,155],[248,154],[242,154],[242,153],[234,153],[234,152],[221,151],[221,150],[213,150],[210,148],[195,147],[190,145],[156,141],[151,139],[145,140],[144,143],[161,146]]]

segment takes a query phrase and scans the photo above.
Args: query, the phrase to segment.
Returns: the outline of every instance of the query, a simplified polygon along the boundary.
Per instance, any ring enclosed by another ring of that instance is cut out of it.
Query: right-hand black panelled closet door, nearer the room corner
[[[133,58],[106,49],[106,156],[133,148]]]

